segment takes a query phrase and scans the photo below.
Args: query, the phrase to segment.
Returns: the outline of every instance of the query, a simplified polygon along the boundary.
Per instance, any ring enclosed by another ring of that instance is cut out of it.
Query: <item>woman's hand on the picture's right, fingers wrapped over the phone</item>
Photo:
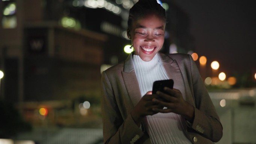
[[[157,102],[166,109],[153,108],[153,111],[159,113],[176,113],[185,117],[189,122],[193,122],[194,107],[183,99],[182,93],[178,89],[170,89],[165,87],[165,93],[157,91],[156,94],[162,99],[153,98],[153,102]]]

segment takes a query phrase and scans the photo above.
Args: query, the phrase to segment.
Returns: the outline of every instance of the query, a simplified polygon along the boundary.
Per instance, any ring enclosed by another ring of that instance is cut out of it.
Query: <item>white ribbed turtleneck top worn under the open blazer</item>
[[[132,60],[141,96],[152,91],[154,81],[169,79],[158,54],[149,62],[138,55],[133,55]],[[185,122],[179,114],[157,113],[147,116],[147,122],[146,129],[153,144],[191,144],[183,133]]]

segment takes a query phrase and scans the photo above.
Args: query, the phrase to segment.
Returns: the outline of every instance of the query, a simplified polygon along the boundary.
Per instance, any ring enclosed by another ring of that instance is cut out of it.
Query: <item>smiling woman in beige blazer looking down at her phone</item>
[[[105,144],[213,144],[222,137],[191,56],[159,53],[165,23],[156,0],[139,0],[130,9],[127,36],[135,52],[102,73]],[[174,89],[152,95],[153,82],[164,79],[173,79]]]

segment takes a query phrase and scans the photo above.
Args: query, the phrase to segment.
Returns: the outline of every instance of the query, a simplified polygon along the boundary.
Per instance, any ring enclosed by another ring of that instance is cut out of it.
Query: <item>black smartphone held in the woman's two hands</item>
[[[157,91],[165,92],[164,87],[173,89],[173,80],[158,80],[153,83],[152,94],[156,94]]]

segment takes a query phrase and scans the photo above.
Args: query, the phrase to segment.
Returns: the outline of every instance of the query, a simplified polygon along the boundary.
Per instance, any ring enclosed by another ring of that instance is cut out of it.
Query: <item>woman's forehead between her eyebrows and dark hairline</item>
[[[165,27],[165,21],[157,15],[147,15],[132,22],[133,28]]]

